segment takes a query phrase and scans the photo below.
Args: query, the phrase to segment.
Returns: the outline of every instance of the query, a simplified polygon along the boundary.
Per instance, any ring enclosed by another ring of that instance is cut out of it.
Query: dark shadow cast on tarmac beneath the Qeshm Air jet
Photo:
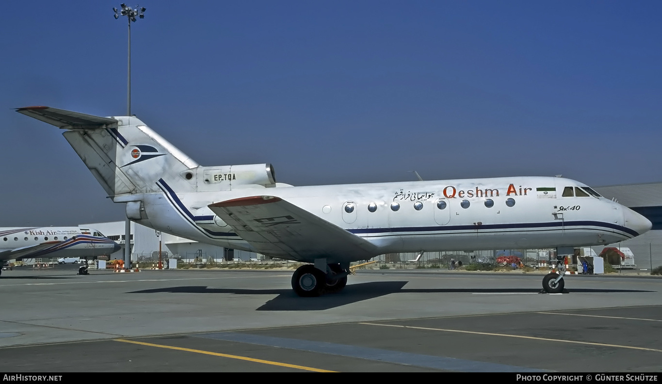
[[[340,293],[322,295],[320,297],[299,297],[291,289],[232,289],[210,288],[206,286],[171,287],[160,289],[145,289],[129,293],[232,293],[235,295],[278,295],[267,301],[256,311],[323,311],[391,295],[392,293],[539,293],[533,288],[489,288],[489,289],[402,289],[408,281],[381,281],[347,285]],[[570,292],[581,293],[639,293],[655,292],[636,289],[571,289]]]

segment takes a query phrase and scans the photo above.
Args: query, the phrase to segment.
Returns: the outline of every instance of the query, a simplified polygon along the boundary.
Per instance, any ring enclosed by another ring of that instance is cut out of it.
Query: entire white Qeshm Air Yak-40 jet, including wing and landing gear
[[[342,290],[350,262],[381,254],[557,248],[563,256],[651,228],[647,218],[560,177],[502,177],[293,187],[270,164],[199,166],[136,117],[97,117],[50,107],[17,112],[64,137],[128,218],[199,242],[305,262],[300,296]]]

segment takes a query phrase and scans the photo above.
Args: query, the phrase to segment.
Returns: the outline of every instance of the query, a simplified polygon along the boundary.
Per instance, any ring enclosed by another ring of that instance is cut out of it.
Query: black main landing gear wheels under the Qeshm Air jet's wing
[[[324,270],[320,269],[323,267]],[[324,293],[337,293],[347,285],[350,265],[326,264],[326,259],[315,264],[301,265],[292,275],[292,289],[301,297],[316,297]]]

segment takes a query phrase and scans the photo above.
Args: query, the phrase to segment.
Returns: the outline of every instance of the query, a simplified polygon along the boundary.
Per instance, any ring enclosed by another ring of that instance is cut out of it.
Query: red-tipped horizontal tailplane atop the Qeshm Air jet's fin
[[[85,113],[78,113],[66,111],[64,109],[57,109],[51,107],[24,107],[16,110],[18,113],[33,117],[34,119],[48,122],[54,126],[66,129],[85,129],[85,128],[117,128],[117,120],[109,117],[99,117],[93,115],[85,115]]]

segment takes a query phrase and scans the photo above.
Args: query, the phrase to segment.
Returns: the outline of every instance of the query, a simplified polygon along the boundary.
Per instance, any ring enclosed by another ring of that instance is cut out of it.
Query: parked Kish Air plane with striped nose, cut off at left
[[[0,263],[32,258],[95,258],[109,256],[120,245],[101,232],[81,226],[0,228]],[[79,268],[87,274],[87,265]]]

